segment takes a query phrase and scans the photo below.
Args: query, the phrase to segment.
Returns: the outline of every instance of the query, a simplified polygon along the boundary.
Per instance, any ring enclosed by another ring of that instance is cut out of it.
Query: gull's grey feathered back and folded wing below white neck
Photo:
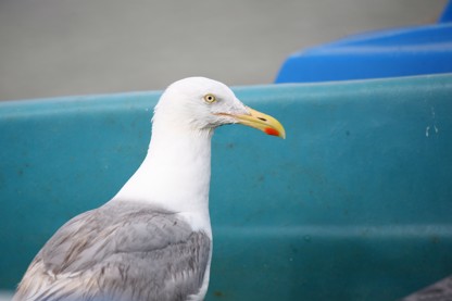
[[[186,300],[211,240],[175,214],[105,205],[80,214],[36,255],[14,300]]]

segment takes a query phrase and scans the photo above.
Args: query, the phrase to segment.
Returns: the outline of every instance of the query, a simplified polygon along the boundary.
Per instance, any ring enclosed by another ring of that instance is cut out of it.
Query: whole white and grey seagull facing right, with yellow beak
[[[155,105],[139,168],[113,199],[47,241],[13,300],[203,300],[212,259],[211,139],[225,124],[286,137],[276,118],[219,81],[172,84]]]

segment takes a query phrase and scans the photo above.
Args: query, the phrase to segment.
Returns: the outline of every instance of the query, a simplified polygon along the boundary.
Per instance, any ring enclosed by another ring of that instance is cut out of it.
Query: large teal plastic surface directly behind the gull
[[[213,138],[208,300],[395,300],[452,274],[452,75],[241,87]],[[0,103],[0,289],[143,159],[160,92]]]

